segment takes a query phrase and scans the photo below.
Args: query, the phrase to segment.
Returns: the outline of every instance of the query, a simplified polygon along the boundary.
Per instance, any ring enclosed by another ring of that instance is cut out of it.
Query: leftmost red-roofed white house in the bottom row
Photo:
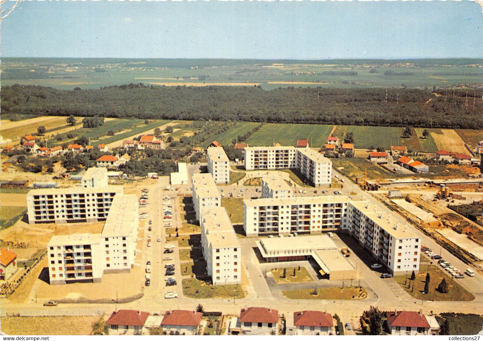
[[[140,334],[148,316],[148,312],[131,309],[113,312],[106,322],[110,328],[109,335]]]

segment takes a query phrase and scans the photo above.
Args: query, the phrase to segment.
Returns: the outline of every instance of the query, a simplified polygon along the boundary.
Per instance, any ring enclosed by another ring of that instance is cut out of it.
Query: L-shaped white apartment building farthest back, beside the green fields
[[[315,186],[331,182],[332,162],[308,147],[245,147],[244,157],[247,171],[297,169]]]

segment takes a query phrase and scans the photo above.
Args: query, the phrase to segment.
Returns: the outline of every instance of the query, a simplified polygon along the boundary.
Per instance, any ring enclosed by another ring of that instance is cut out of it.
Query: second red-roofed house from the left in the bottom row
[[[197,335],[202,316],[202,313],[191,310],[167,311],[161,321],[161,327],[166,332],[172,330],[178,331],[181,335]]]

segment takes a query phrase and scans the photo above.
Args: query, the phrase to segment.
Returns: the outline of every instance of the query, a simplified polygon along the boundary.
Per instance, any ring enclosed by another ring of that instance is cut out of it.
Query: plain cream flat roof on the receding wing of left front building
[[[116,194],[107,216],[102,237],[128,236],[139,224],[138,198],[134,194]]]

